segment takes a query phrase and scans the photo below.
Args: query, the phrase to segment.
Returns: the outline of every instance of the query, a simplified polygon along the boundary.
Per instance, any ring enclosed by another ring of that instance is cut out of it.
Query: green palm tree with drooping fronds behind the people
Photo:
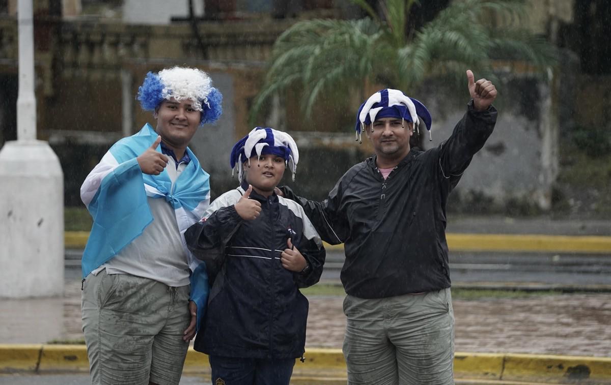
[[[467,68],[491,76],[493,60],[520,60],[538,70],[555,63],[544,38],[518,27],[524,0],[455,0],[413,31],[406,31],[406,15],[417,0],[379,1],[383,17],[365,0],[351,1],[368,17],[300,21],[277,38],[251,120],[290,88],[301,90],[309,117],[322,95],[364,98],[367,84],[408,90],[430,77],[463,80]]]

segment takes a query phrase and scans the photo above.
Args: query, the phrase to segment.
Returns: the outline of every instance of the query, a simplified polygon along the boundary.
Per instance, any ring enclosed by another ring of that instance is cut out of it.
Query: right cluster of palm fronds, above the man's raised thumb
[[[490,12],[502,20],[500,26],[481,22]],[[492,77],[492,61],[509,56],[538,67],[552,65],[554,48],[544,38],[510,27],[524,12],[521,0],[453,2],[399,51],[404,87],[433,75],[452,77],[453,73],[462,80],[466,68]]]

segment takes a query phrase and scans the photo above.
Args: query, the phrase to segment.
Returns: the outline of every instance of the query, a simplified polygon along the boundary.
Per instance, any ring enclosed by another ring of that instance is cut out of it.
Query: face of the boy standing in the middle
[[[258,158],[253,156],[250,160],[250,165],[248,161],[244,162],[246,181],[252,184],[257,192],[273,192],[284,175],[284,158],[274,154],[263,154]]]

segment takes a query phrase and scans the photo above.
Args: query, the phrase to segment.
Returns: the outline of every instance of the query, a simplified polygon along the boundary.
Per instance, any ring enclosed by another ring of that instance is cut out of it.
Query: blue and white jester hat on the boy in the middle
[[[274,154],[284,159],[295,181],[297,163],[299,162],[299,151],[295,140],[286,132],[278,131],[269,127],[255,127],[245,137],[238,140],[230,155],[232,176],[235,168],[238,168],[238,179],[241,181],[244,175],[243,163],[252,156],[260,157],[263,154]],[[250,164],[250,163],[249,163]]]

